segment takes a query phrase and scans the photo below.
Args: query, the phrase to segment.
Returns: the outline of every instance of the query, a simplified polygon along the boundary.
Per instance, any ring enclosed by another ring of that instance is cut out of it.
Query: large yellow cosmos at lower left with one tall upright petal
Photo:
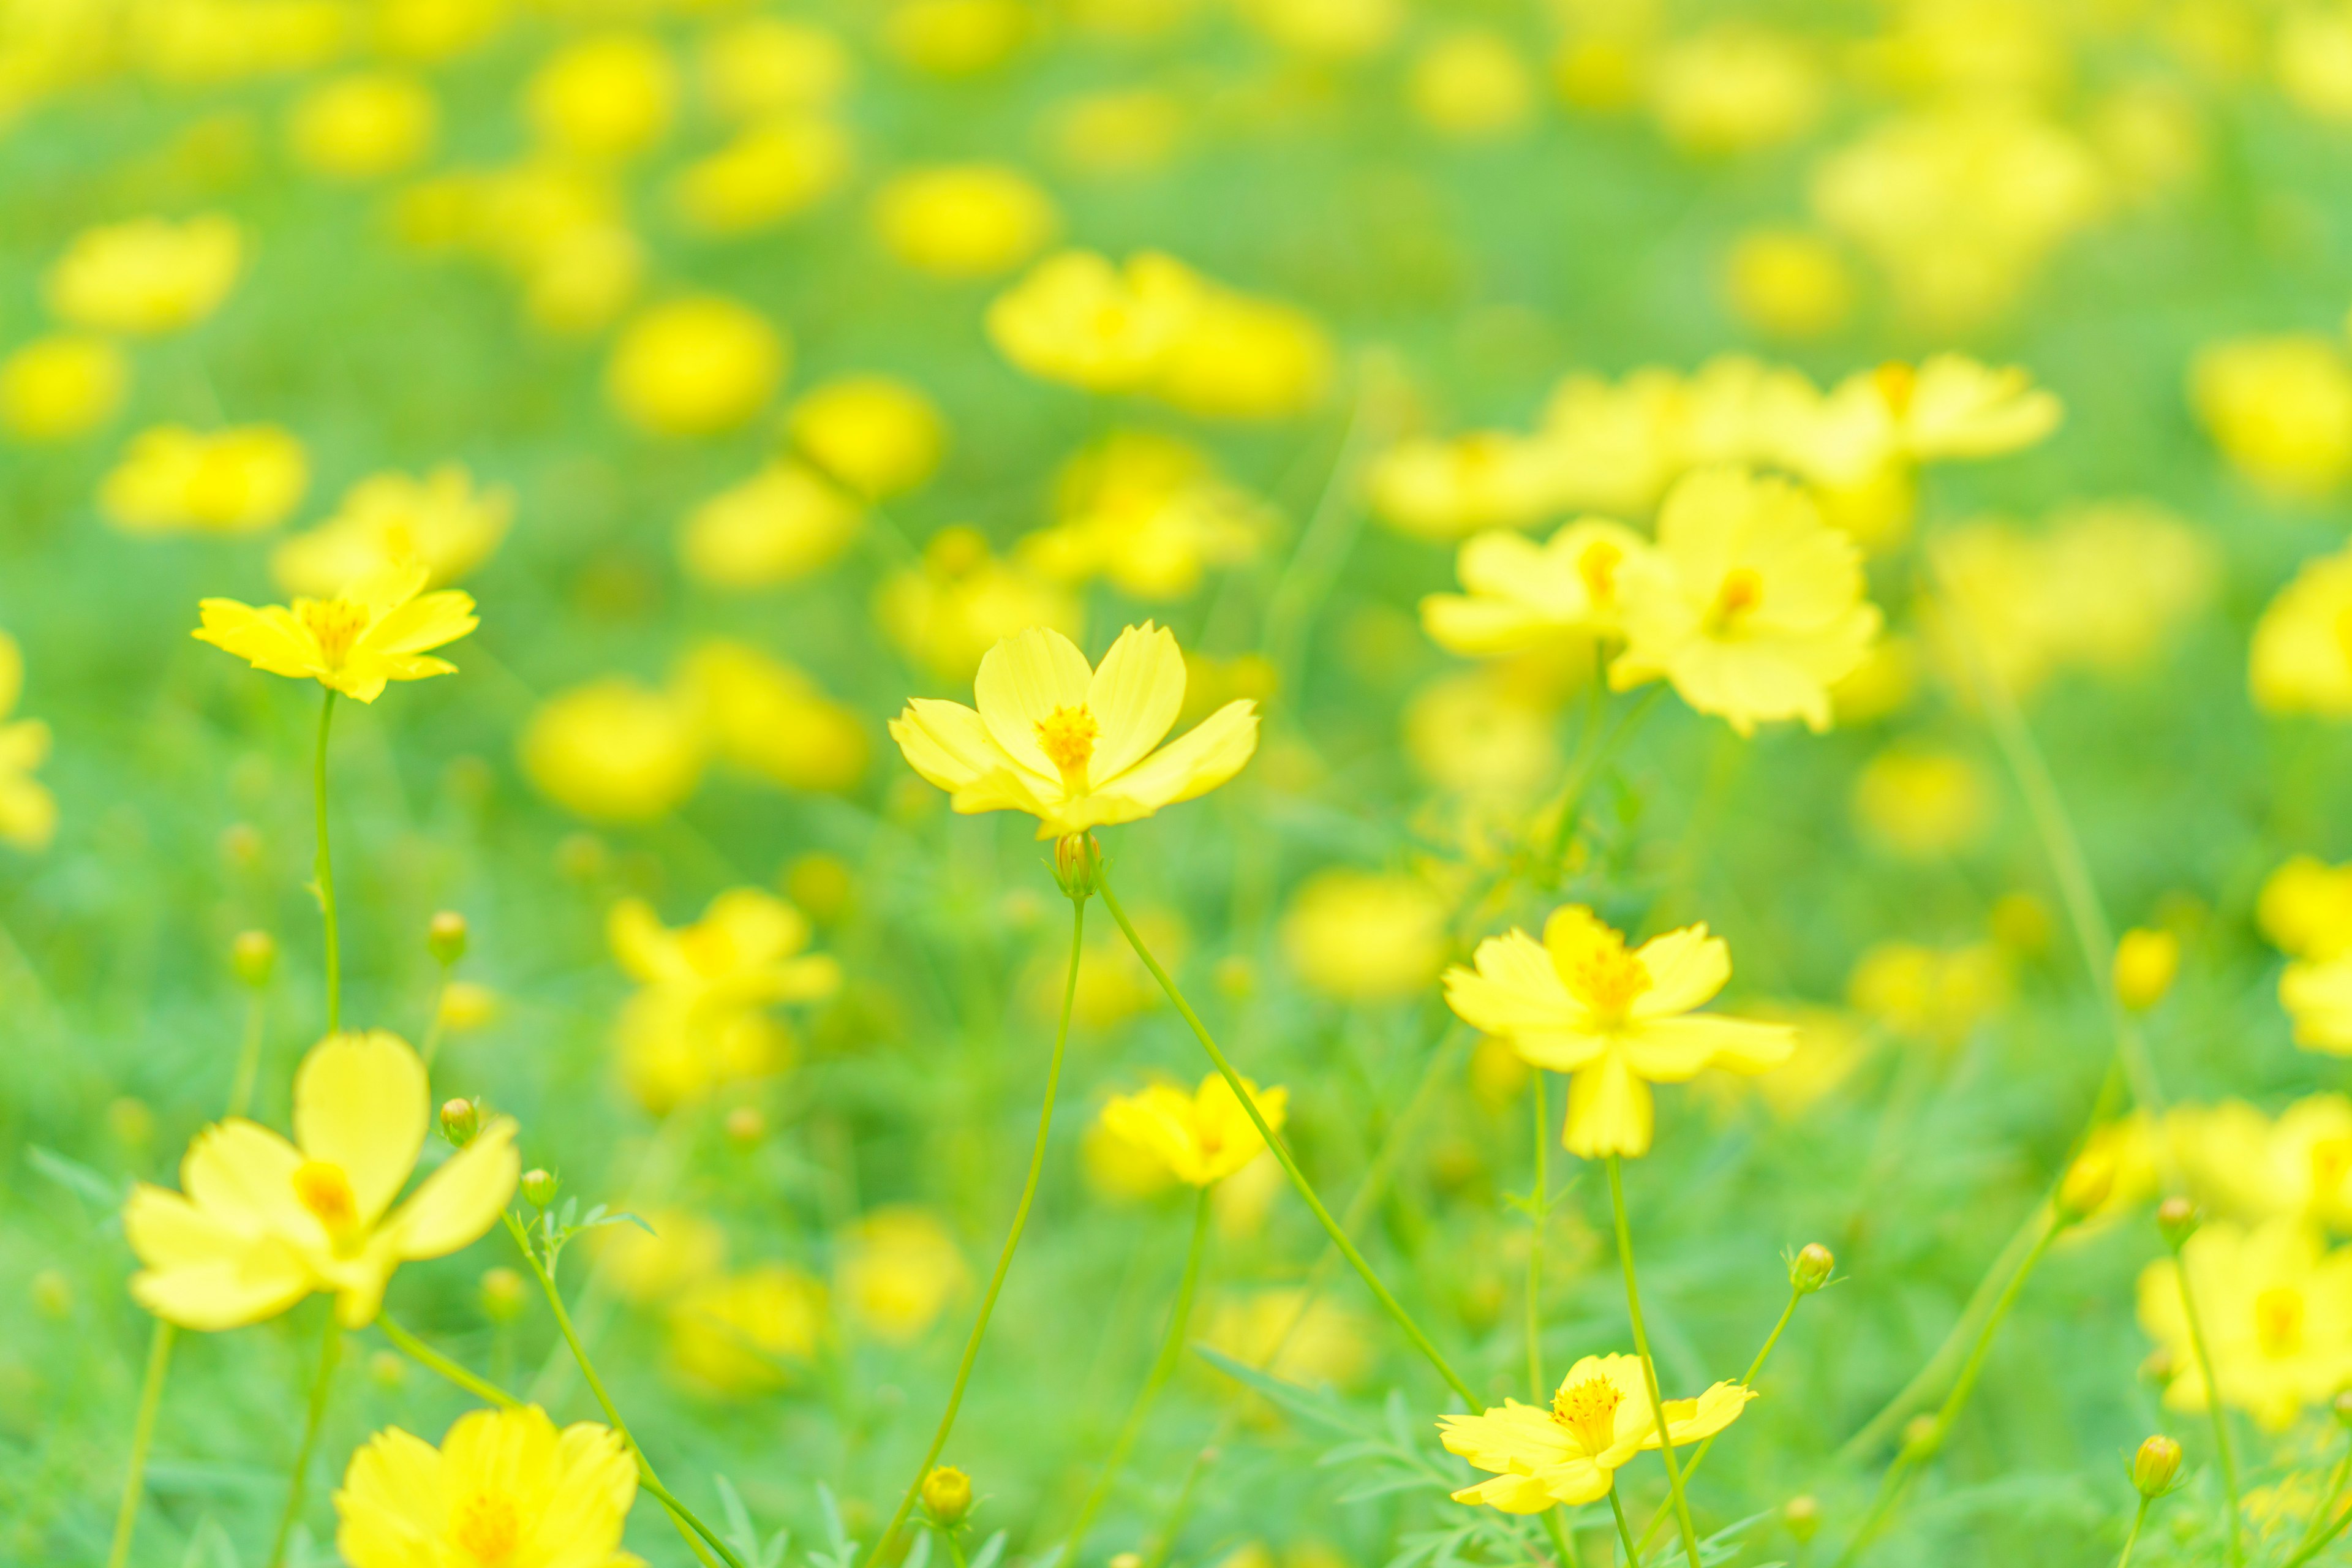
[[[188,1145],[183,1194],[132,1190],[122,1234],[146,1265],[132,1295],[181,1328],[238,1328],[329,1291],[346,1328],[369,1324],[393,1269],[459,1251],[515,1192],[515,1124],[496,1117],[393,1208],[430,1114],[405,1039],[329,1034],[294,1077],[294,1143],[219,1121]]]

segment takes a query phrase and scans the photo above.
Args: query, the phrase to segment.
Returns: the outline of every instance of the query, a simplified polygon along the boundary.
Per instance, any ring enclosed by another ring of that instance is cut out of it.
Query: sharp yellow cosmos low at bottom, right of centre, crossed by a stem
[[[1748,1408],[1755,1389],[1717,1382],[1698,1399],[1665,1401],[1665,1432],[1677,1448],[1715,1436]],[[1454,1493],[1505,1514],[1541,1514],[1559,1502],[1595,1502],[1616,1486],[1616,1469],[1658,1448],[1658,1418],[1639,1356],[1585,1356],[1569,1368],[1552,1408],[1505,1399],[1484,1415],[1444,1415],[1446,1453],[1458,1453],[1494,1481]]]

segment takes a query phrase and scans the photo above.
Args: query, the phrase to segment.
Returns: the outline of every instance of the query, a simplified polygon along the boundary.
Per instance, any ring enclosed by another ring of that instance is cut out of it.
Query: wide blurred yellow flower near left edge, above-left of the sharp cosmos
[[[278,425],[212,435],[155,425],[106,475],[99,510],[129,534],[259,534],[285,522],[308,487],[310,461]]]

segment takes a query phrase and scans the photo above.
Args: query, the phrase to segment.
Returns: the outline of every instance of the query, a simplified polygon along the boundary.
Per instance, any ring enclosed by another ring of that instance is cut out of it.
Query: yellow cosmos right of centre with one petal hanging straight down
[[[1682,1084],[1703,1067],[1764,1072],[1797,1048],[1785,1023],[1686,1018],[1731,978],[1731,950],[1705,926],[1684,926],[1628,950],[1592,910],[1569,905],[1543,924],[1477,945],[1477,969],[1446,971],[1446,1004],[1569,1081],[1571,1154],[1646,1154],[1651,1084]]]

